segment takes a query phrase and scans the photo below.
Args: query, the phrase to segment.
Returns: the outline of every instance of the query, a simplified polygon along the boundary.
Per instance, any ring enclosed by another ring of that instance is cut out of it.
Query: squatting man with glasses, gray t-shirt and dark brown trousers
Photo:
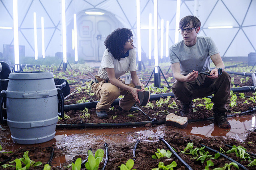
[[[169,49],[172,73],[176,79],[172,91],[183,104],[182,116],[193,114],[193,98],[214,94],[211,99],[214,103],[214,121],[221,128],[230,128],[226,103],[230,96],[231,78],[225,71],[218,74],[218,71],[224,70],[220,53],[210,37],[197,36],[200,25],[200,20],[195,16],[186,16],[180,20],[179,32],[183,40]],[[211,61],[216,67],[212,70]]]

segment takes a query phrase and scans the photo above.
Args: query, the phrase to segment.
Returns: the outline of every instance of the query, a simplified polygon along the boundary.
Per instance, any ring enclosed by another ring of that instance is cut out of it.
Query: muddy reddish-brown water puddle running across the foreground
[[[188,123],[186,129],[180,129],[188,135],[196,135],[202,138],[214,136],[227,136],[235,138],[239,141],[244,141],[248,131],[255,129],[255,116],[246,115],[242,117],[230,117],[228,121],[231,124],[231,129],[221,129],[214,125],[212,121]],[[56,130],[54,139],[35,145],[20,145],[12,142],[11,135],[2,139],[6,145],[2,146],[2,151],[16,150],[27,146],[44,146],[50,147],[56,145],[58,148],[65,148],[68,155],[54,158],[53,166],[71,160],[77,154],[86,154],[90,148],[90,144],[99,145],[103,148],[104,143],[108,145],[118,145],[124,143],[133,143],[137,139],[147,141],[152,137],[162,137],[168,131],[166,125],[158,125],[156,127],[126,127],[126,128],[105,128],[105,129],[65,129]],[[152,140],[151,140],[152,141]]]

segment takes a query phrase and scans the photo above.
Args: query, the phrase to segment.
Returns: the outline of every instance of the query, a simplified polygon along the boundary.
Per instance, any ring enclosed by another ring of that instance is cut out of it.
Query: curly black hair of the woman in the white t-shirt
[[[124,45],[132,37],[132,31],[128,28],[115,29],[104,41],[104,45],[108,52],[110,52],[114,59],[120,61],[121,56],[124,54]]]

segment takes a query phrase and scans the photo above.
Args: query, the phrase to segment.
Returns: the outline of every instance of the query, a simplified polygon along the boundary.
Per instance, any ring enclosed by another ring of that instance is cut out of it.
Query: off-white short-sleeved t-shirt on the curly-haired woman
[[[125,57],[124,59],[121,58],[120,61],[118,61],[112,56],[110,52],[108,52],[108,49],[106,49],[104,51],[104,54],[100,63],[98,76],[100,76],[100,78],[103,78],[105,80],[109,80],[106,68],[114,68],[116,78],[119,78],[120,76],[122,76],[128,71],[136,71],[137,70],[136,56],[137,55],[136,55],[135,49],[131,49],[129,51],[128,57]]]

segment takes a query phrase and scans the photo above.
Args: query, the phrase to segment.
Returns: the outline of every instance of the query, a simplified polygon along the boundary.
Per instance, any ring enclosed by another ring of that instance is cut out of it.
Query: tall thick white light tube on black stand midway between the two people
[[[155,56],[155,73],[158,73],[158,12],[157,0],[154,0],[154,56]]]

